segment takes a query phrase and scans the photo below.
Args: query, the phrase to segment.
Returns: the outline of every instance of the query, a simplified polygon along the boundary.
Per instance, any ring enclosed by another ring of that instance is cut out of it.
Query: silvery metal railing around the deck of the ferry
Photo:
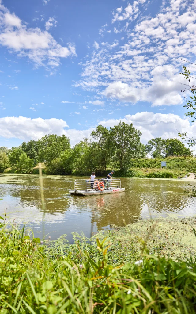
[[[115,189],[115,188],[121,188],[121,181],[120,179],[112,179],[112,180],[106,180],[104,178],[97,179],[94,181],[93,186],[91,185],[90,180],[84,180],[84,179],[77,179],[74,181],[74,190],[75,191],[99,191],[98,189],[98,182],[103,182],[104,189]]]

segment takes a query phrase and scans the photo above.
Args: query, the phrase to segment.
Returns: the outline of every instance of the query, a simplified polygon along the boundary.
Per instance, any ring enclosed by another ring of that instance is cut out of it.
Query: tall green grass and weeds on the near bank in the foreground
[[[149,254],[146,241],[151,233],[145,241],[138,239],[142,260],[115,266],[109,263],[108,239],[97,239],[93,257],[83,240],[78,263],[78,257],[65,255],[61,245],[58,257],[50,258],[40,240],[30,240],[24,228],[12,225],[6,231],[4,223],[0,227],[0,313],[196,311],[195,259],[175,262]]]

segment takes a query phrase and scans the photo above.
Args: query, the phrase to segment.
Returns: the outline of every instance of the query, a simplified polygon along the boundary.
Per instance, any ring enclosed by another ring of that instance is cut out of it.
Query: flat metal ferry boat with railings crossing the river
[[[120,179],[106,180],[104,178],[98,179],[92,183],[90,180],[78,179],[74,181],[74,190],[69,190],[73,195],[99,195],[109,193],[124,192],[124,188],[121,187]]]

